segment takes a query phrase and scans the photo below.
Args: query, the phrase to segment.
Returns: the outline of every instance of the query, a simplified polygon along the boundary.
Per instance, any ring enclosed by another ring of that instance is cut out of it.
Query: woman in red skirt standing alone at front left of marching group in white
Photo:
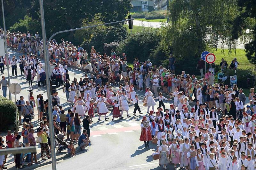
[[[140,127],[141,127],[140,141],[144,141],[145,148],[149,147],[149,141],[152,140],[152,136],[151,136],[152,130],[150,125],[151,124],[147,120],[147,117],[144,116],[140,124]]]

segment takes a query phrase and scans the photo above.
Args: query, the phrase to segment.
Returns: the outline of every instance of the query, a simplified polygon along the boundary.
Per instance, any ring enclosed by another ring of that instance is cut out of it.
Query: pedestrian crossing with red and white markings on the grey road
[[[116,135],[118,133],[130,133],[137,130],[140,130],[140,121],[135,120],[122,120],[119,122],[108,122],[106,124],[99,124],[91,126],[90,136],[91,137],[100,137],[102,135]]]

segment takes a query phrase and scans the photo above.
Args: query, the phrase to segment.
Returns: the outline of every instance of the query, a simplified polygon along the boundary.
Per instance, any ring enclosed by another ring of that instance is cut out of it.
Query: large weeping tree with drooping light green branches
[[[219,39],[229,52],[236,48],[230,22],[238,11],[236,0],[172,0],[169,8],[171,21],[161,42],[166,53],[172,52],[180,60],[197,58],[207,48],[216,49]]]

